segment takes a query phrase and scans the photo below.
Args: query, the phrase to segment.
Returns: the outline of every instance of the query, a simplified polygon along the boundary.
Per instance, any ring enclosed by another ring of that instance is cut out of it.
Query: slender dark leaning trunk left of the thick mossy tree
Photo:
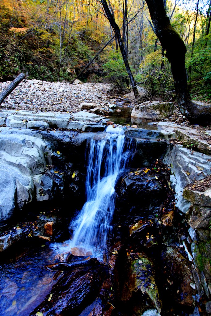
[[[124,61],[124,64],[125,64],[125,68],[126,68],[127,74],[129,76],[130,82],[132,84],[132,89],[133,89],[134,96],[135,96],[135,98],[138,98],[139,97],[139,92],[138,92],[138,89],[136,87],[136,82],[134,80],[132,71],[130,69],[130,65],[128,63],[127,53],[125,51],[125,48],[124,48],[124,45],[123,45],[123,42],[122,42],[120,28],[119,28],[119,26],[116,24],[116,22],[114,20],[114,17],[113,17],[113,15],[112,15],[112,13],[111,13],[111,11],[109,9],[107,1],[106,0],[101,0],[100,2],[102,3],[103,9],[105,11],[105,14],[106,14],[106,16],[107,16],[107,18],[109,20],[109,23],[110,23],[111,27],[113,28],[115,36],[116,36],[116,38],[118,40],[120,52],[121,52],[121,55],[122,55],[122,58],[123,58],[123,61]]]

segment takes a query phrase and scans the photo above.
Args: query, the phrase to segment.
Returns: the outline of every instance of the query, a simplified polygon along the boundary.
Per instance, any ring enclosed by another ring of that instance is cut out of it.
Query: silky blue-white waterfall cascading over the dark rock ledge
[[[101,259],[106,253],[115,210],[115,181],[132,154],[131,142],[125,142],[123,130],[111,127],[108,126],[104,137],[91,139],[87,146],[87,200],[71,222],[73,235],[68,245],[68,250],[83,247]]]

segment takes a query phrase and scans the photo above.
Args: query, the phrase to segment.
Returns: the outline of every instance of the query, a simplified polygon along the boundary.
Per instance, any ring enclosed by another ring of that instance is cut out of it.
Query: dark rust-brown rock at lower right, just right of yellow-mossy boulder
[[[184,306],[193,306],[195,290],[190,286],[193,283],[191,264],[180,252],[179,248],[167,247],[161,253],[161,279],[165,292],[162,297],[168,302],[177,302]]]

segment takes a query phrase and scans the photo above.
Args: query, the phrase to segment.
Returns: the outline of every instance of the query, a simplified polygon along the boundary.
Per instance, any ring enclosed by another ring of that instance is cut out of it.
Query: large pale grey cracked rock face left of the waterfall
[[[32,135],[8,132],[0,135],[0,221],[32,201],[35,180],[48,162],[46,142]]]

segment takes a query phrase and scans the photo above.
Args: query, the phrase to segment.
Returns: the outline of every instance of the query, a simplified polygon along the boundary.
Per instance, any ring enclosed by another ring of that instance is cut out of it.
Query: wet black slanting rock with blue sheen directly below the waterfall
[[[30,316],[37,313],[42,313],[43,316],[78,315],[98,295],[104,275],[103,269],[99,265],[95,269],[76,269],[65,273]]]

